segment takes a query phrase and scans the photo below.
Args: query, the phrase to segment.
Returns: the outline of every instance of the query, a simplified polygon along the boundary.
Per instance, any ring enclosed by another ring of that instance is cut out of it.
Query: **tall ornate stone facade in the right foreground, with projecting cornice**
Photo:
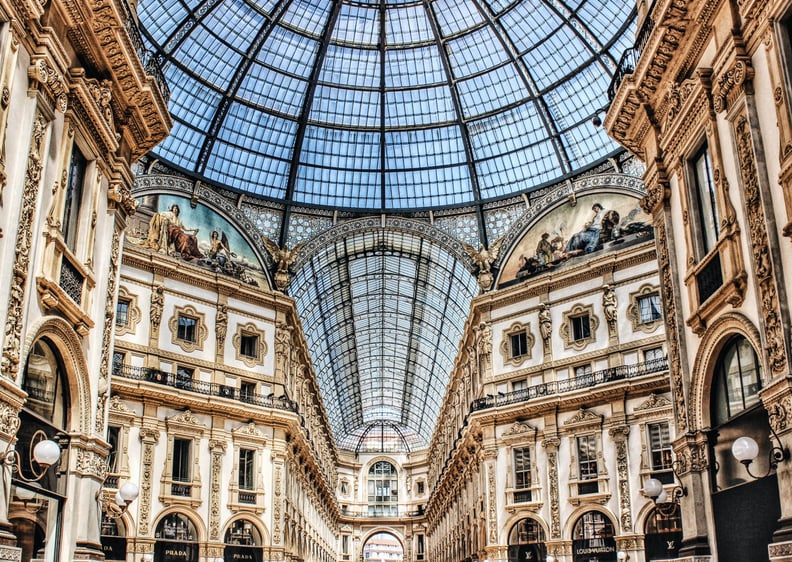
[[[792,560],[792,5],[641,11],[605,126],[646,163],[659,234],[687,491],[679,559]],[[759,449],[744,466],[731,452],[741,436]]]

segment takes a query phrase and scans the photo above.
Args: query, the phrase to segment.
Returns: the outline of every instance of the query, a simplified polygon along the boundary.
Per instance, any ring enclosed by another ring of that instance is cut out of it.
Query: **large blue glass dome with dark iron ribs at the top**
[[[141,0],[172,89],[157,157],[298,206],[466,206],[617,150],[591,117],[632,2]]]

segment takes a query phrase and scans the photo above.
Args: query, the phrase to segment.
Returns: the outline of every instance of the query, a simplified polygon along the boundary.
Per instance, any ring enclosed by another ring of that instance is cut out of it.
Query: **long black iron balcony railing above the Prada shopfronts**
[[[165,371],[160,371],[159,369],[133,367],[131,365],[115,365],[113,367],[113,375],[125,379],[162,384],[206,396],[230,398],[231,400],[237,400],[239,402],[244,402],[245,404],[254,404],[256,406],[263,406],[265,408],[275,408],[276,410],[297,412],[297,403],[294,400],[290,400],[286,396],[275,397],[272,394],[265,396],[263,394],[251,394],[250,392],[242,393],[238,388],[233,386],[197,381],[194,379],[185,380],[184,377],[177,376],[174,373],[166,373]]]

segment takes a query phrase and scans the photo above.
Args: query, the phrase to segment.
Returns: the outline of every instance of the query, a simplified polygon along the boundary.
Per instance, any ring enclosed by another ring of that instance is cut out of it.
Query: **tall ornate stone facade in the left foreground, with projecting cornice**
[[[131,165],[170,128],[125,2],[0,2],[0,560],[103,559]],[[54,465],[33,460],[57,444]]]

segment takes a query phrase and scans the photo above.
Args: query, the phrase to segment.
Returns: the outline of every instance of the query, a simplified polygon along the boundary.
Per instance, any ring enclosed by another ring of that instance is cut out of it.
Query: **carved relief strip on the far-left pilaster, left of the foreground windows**
[[[20,352],[22,350],[22,306],[30,267],[30,246],[33,239],[34,213],[38,207],[39,183],[41,182],[42,160],[44,158],[44,137],[47,120],[41,113],[33,119],[33,134],[30,138],[25,188],[22,192],[22,206],[19,214],[14,263],[11,276],[11,295],[8,299],[5,336],[3,338],[3,357],[0,369],[3,375],[16,380],[19,372]]]

